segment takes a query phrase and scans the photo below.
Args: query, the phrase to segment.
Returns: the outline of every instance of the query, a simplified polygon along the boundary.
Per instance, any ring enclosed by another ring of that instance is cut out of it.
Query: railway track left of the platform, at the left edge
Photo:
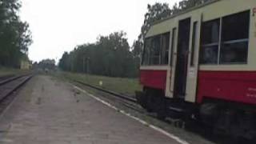
[[[0,78],[0,114],[14,99],[14,92],[23,86],[33,74],[9,75]]]

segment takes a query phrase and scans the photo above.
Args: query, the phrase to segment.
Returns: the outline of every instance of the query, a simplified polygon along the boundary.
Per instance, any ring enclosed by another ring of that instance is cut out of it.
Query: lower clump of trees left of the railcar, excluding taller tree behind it
[[[64,53],[58,64],[62,70],[106,75],[136,77],[138,74],[126,33],[115,32],[99,36],[97,42],[76,46]]]

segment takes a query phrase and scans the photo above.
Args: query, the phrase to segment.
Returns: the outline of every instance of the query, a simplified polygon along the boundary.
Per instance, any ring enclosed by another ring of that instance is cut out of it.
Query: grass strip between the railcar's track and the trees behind
[[[68,72],[59,72],[62,77],[78,80],[88,83],[92,86],[99,86],[106,90],[111,90],[119,94],[134,95],[136,90],[142,90],[139,85],[138,78],[110,78],[104,76],[90,75],[90,74],[75,74]],[[100,86],[102,82],[102,86]]]

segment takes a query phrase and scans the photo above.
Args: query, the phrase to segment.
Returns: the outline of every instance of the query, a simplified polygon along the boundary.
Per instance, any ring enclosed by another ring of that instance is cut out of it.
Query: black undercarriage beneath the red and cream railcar
[[[236,102],[205,99],[202,104],[185,102],[180,98],[166,98],[162,90],[144,88],[136,93],[139,104],[164,120],[180,118],[210,127],[213,134],[232,138],[256,140],[256,107]]]

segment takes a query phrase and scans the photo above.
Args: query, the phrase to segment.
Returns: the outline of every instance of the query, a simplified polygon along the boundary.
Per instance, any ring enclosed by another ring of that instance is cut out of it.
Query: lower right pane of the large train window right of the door
[[[248,42],[223,44],[221,49],[221,63],[246,63]]]

